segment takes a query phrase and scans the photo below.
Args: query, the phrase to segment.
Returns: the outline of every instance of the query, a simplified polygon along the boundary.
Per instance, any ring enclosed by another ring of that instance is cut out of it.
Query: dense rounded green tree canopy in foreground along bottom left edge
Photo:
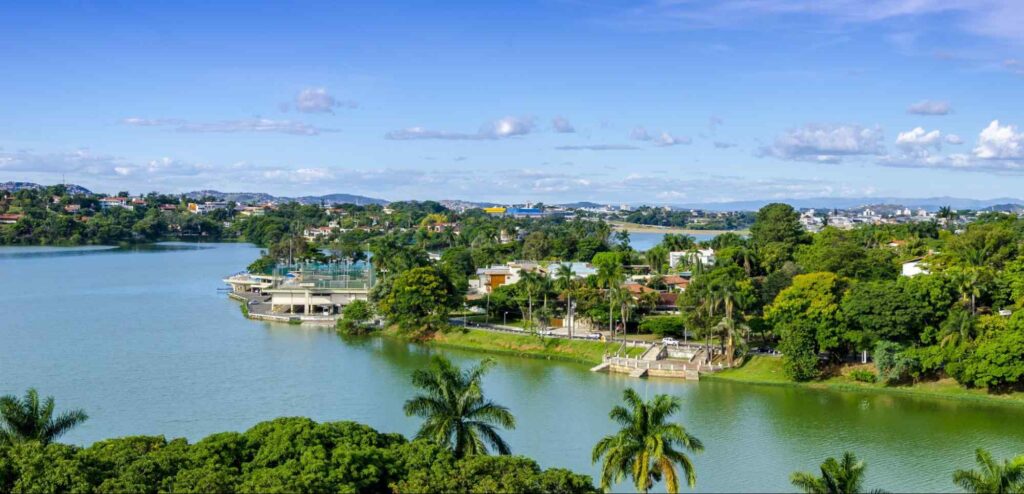
[[[189,444],[136,436],[88,448],[0,445],[0,492],[595,492],[521,456],[458,459],[355,422],[278,418]]]

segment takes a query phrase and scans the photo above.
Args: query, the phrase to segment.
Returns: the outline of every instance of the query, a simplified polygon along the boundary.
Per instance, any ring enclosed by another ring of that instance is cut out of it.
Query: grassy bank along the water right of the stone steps
[[[860,382],[848,375],[839,375],[811,382],[795,382],[782,372],[782,359],[775,357],[753,357],[742,367],[715,374],[702,375],[701,379],[744,382],[751,384],[802,386],[819,389],[860,390],[887,393],[893,395],[943,398],[987,403],[1007,403],[1024,406],[1024,393],[992,395],[984,389],[969,389],[952,379],[919,382],[912,385],[889,386],[878,382]]]

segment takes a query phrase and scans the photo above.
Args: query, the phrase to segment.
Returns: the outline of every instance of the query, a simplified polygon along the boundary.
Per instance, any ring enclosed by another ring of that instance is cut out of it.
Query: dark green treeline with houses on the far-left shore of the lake
[[[114,245],[229,236],[223,221],[230,210],[190,214],[180,197],[160,194],[146,195],[131,208],[103,208],[99,199],[68,194],[63,186],[0,192],[0,214],[19,216],[0,224],[0,245]],[[162,205],[175,207],[162,210]]]

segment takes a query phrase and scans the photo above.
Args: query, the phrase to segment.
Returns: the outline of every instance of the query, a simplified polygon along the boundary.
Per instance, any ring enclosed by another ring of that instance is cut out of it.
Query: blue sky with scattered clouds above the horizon
[[[0,181],[1024,197],[1024,2],[16,2]]]

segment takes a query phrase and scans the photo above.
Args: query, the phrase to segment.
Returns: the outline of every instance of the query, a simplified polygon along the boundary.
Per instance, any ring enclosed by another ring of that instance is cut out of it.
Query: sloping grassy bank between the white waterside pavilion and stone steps
[[[546,338],[530,334],[500,333],[462,328],[452,328],[447,333],[437,333],[427,341],[436,346],[486,352],[492,354],[530,357],[536,359],[554,359],[582,364],[597,365],[606,353],[618,349],[618,342],[602,342],[588,340],[567,340],[562,338]],[[628,348],[627,354],[638,356],[643,348]]]

